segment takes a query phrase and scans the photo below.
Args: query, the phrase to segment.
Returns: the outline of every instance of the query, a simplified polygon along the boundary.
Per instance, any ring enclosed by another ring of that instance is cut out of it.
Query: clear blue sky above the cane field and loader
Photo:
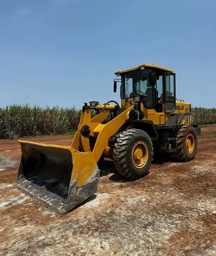
[[[120,102],[114,71],[173,69],[177,98],[216,107],[216,1],[0,0],[0,107]]]

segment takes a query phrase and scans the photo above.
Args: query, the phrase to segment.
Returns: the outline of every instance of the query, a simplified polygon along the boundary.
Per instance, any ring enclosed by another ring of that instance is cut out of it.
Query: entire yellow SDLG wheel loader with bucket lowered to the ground
[[[116,170],[131,180],[148,173],[155,152],[178,161],[195,157],[201,129],[191,122],[190,103],[176,98],[176,74],[143,64],[115,75],[113,89],[120,84],[121,106],[116,101],[85,103],[71,146],[19,140],[17,189],[65,214],[97,191],[103,157],[112,158]]]

